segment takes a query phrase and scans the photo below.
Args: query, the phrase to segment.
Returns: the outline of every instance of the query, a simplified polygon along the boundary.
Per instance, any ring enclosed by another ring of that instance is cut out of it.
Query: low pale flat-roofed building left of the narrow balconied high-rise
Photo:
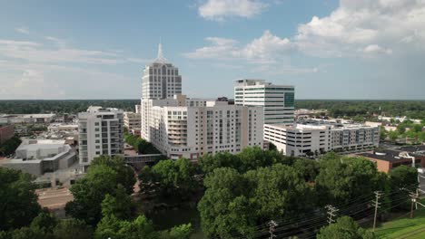
[[[0,161],[0,166],[20,169],[36,177],[71,167],[76,162],[74,148],[64,140],[24,139],[16,148],[15,158]]]

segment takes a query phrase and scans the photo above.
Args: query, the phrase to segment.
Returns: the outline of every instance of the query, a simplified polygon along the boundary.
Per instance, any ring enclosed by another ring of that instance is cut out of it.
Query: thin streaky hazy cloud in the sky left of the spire
[[[117,64],[146,60],[75,48],[53,36],[37,39],[41,40],[0,39],[0,99],[137,97],[131,90],[139,81],[111,71]]]

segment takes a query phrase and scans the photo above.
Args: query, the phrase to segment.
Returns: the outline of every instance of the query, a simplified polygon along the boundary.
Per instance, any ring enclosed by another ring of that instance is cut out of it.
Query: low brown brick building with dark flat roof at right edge
[[[398,150],[380,150],[357,154],[358,156],[368,158],[376,163],[378,171],[389,173],[393,168],[401,165],[407,167],[425,167],[425,155],[416,152]]]

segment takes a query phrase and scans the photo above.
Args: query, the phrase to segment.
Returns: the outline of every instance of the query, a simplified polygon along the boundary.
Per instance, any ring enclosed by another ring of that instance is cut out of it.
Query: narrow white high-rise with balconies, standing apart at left
[[[124,153],[123,113],[123,110],[99,106],[78,113],[79,158],[84,169],[95,157]]]

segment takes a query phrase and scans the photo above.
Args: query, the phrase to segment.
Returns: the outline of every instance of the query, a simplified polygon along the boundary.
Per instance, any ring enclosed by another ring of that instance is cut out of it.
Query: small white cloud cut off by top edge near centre
[[[207,0],[199,6],[198,13],[205,19],[222,21],[232,16],[251,18],[267,6],[259,0]]]

